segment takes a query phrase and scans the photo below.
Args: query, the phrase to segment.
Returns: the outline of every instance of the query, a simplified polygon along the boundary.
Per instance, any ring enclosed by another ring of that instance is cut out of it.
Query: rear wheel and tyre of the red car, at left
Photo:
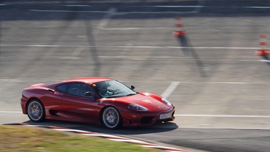
[[[33,122],[41,122],[45,120],[45,109],[41,101],[32,99],[27,106],[27,115]]]

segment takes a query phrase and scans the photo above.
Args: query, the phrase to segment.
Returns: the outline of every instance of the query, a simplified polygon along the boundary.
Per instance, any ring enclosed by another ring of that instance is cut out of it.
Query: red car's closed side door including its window
[[[67,93],[63,95],[63,111],[75,121],[96,122],[99,120],[98,100],[94,96],[85,96],[92,88],[86,83],[69,83]]]

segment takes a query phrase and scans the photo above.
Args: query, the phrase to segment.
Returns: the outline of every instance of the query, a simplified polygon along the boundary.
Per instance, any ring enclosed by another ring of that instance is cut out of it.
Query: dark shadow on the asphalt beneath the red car
[[[117,130],[110,130],[101,125],[94,125],[90,123],[76,123],[70,121],[54,121],[46,120],[40,123],[34,123],[33,121],[24,121],[23,123],[32,126],[43,127],[43,128],[69,128],[76,129],[80,131],[90,131],[95,133],[109,133],[113,135],[137,135],[146,133],[160,133],[173,131],[178,128],[176,123],[172,122],[160,122],[155,123],[152,126],[142,126],[142,127],[122,127]]]

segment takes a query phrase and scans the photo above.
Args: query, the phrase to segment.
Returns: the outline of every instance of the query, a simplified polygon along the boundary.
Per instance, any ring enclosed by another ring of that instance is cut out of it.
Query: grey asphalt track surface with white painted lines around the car
[[[19,104],[26,86],[106,76],[165,96],[175,121],[38,125],[190,151],[269,151],[270,64],[254,52],[259,34],[270,41],[270,1],[1,1],[0,14],[1,124],[31,123]],[[172,36],[176,16],[187,43]]]

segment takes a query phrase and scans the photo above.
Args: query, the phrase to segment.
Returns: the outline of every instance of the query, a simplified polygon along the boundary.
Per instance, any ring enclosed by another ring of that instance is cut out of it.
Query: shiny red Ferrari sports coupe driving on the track
[[[22,91],[21,108],[33,122],[48,118],[103,124],[110,129],[175,119],[175,106],[169,101],[134,88],[103,77],[37,83]]]

